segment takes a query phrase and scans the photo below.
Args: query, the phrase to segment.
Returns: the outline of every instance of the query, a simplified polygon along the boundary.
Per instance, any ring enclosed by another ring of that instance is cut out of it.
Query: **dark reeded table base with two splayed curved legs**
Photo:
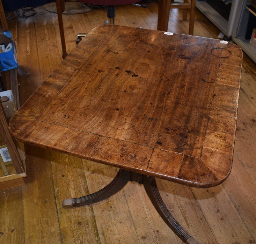
[[[183,242],[186,244],[198,244],[198,242],[179,225],[165,206],[157,189],[155,178],[140,173],[120,169],[116,177],[103,189],[84,197],[65,199],[62,202],[62,207],[78,207],[105,200],[120,191],[128,181],[135,181],[144,186],[158,214]]]

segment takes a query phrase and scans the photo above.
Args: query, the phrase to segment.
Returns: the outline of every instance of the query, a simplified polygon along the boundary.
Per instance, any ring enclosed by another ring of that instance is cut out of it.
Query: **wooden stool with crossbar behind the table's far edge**
[[[170,9],[183,9],[183,20],[187,19],[187,9],[190,9],[188,34],[193,35],[195,0],[184,0],[184,3],[171,3],[171,0],[158,0],[157,30],[167,31]]]

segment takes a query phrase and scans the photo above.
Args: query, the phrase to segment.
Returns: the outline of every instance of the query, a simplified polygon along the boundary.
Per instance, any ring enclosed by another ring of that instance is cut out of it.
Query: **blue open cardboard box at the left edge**
[[[16,45],[11,37],[11,31],[0,34],[0,44],[4,44],[4,52],[0,53],[0,70],[7,71],[18,67]],[[10,44],[10,46],[8,46]],[[2,48],[3,49],[3,48]]]

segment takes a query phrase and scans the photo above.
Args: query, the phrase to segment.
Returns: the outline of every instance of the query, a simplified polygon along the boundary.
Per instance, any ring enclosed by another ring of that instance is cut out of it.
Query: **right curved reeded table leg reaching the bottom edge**
[[[148,178],[146,175],[144,175],[143,185],[158,214],[163,220],[165,220],[165,223],[172,229],[172,231],[186,244],[198,244],[198,242],[192,236],[190,236],[172,217],[172,214],[165,206],[160,193],[158,192],[155,178]]]

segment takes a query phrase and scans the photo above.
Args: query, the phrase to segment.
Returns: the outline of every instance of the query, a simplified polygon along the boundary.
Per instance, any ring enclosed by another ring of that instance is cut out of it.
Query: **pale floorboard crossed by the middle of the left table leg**
[[[89,160],[82,161],[90,193],[97,192],[105,187],[117,173],[114,167],[101,166]],[[92,208],[98,227],[100,243],[140,243],[122,190],[106,200],[93,204]],[[113,236],[117,238],[113,239]]]

